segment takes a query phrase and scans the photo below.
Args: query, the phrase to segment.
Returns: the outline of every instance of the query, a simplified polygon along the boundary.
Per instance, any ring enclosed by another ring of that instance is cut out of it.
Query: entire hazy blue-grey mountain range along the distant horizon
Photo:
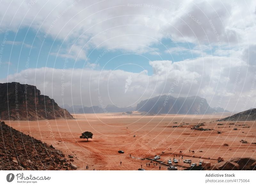
[[[223,108],[211,108],[206,99],[199,96],[179,97],[162,95],[143,100],[137,104],[137,107],[118,107],[116,105],[107,105],[104,111],[100,106],[82,107],[82,105],[62,105],[61,108],[67,109],[70,113],[104,113],[104,112],[128,112],[140,111],[154,114],[209,114],[212,112],[229,112]]]

